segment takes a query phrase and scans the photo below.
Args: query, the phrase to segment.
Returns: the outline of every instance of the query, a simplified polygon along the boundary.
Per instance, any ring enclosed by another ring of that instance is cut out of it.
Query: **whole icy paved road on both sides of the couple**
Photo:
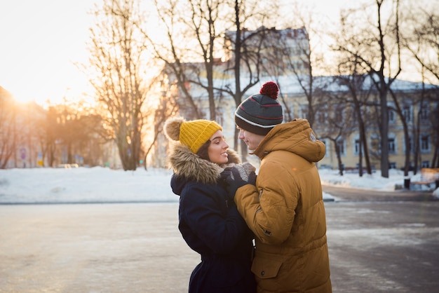
[[[436,292],[439,200],[324,190],[333,292]],[[0,292],[187,292],[177,203],[0,205]]]

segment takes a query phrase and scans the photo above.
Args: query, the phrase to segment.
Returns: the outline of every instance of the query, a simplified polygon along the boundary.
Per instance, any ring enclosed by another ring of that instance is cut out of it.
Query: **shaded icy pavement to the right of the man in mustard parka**
[[[333,292],[437,292],[439,200],[323,186]]]

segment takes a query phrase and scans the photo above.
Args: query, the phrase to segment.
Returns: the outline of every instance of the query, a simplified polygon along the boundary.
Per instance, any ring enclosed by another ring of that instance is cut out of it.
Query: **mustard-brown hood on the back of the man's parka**
[[[252,154],[263,158],[271,151],[279,150],[290,151],[309,162],[320,161],[326,152],[325,144],[316,139],[306,119],[276,125]]]

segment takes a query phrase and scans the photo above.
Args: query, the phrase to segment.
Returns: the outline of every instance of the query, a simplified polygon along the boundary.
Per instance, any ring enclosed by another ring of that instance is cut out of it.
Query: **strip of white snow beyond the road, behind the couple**
[[[390,170],[389,178],[345,174],[321,169],[322,184],[391,191],[404,183],[403,172]],[[122,203],[177,202],[170,189],[172,172],[166,169],[136,171],[109,168],[32,168],[0,170],[1,203]],[[412,177],[412,180],[415,178]],[[438,190],[435,191],[438,196]],[[333,197],[324,193],[326,200]]]

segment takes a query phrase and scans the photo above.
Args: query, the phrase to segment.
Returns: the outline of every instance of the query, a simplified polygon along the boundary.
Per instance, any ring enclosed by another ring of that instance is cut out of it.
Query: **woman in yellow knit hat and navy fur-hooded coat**
[[[240,163],[215,121],[169,118],[164,130],[173,146],[168,162],[173,192],[180,196],[179,229],[201,263],[189,280],[189,293],[256,292],[250,271],[253,235],[229,196],[225,168]],[[255,184],[251,165],[236,165]],[[225,175],[224,175],[225,174]],[[246,181],[246,183],[248,183]]]

